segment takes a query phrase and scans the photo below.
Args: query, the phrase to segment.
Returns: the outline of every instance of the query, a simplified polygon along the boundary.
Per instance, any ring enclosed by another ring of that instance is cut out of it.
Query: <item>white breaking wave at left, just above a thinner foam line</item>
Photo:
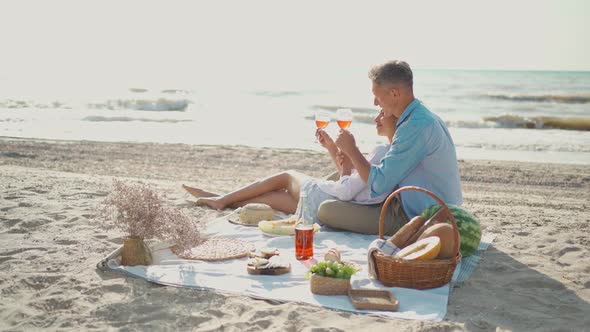
[[[184,111],[188,107],[187,99],[111,99],[96,103],[89,103],[94,109],[131,109],[137,111]]]

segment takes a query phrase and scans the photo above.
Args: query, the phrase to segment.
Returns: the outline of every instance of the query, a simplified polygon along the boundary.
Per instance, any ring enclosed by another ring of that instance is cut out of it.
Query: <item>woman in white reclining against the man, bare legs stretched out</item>
[[[389,145],[395,134],[397,118],[385,117],[383,111],[375,117],[375,125],[379,136],[386,136]],[[387,194],[371,198],[370,190],[366,183],[360,178],[356,170],[352,169],[352,163],[341,153],[332,138],[322,129],[316,132],[320,144],[328,150],[332,160],[336,164],[340,179],[329,181],[311,178],[296,171],[286,171],[256,181],[238,190],[227,194],[211,193],[199,188],[186,185],[182,187],[191,195],[198,198],[197,204],[206,205],[211,208],[222,210],[226,207],[236,208],[248,203],[264,203],[273,209],[285,213],[295,213],[301,208],[299,202],[300,194],[306,194],[305,210],[310,216],[317,220],[319,205],[328,199],[350,201],[358,204],[380,203]],[[369,155],[369,161],[377,164],[389,149],[389,145],[377,146]]]

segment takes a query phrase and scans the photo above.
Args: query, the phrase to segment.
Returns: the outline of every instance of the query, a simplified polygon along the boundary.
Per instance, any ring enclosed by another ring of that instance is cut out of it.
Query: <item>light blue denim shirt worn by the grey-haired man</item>
[[[447,204],[461,205],[461,180],[453,139],[445,123],[414,99],[397,122],[391,148],[372,165],[367,181],[371,197],[403,186],[432,191]],[[430,196],[413,190],[401,194],[409,218],[436,203]]]

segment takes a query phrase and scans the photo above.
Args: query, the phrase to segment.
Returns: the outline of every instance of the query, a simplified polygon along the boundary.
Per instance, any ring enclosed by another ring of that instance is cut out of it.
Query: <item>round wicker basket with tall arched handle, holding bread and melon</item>
[[[387,197],[381,209],[381,216],[379,217],[379,238],[383,237],[383,220],[387,214],[387,207],[389,203],[403,191],[416,190],[423,192],[437,201],[444,210],[443,212],[448,216],[453,224],[455,231],[455,245],[453,247],[453,256],[447,259],[433,259],[433,260],[403,260],[397,257],[384,255],[382,252],[376,251],[373,253],[373,260],[375,263],[375,270],[377,279],[388,287],[404,287],[415,289],[427,289],[440,287],[451,281],[455,267],[461,260],[459,253],[459,229],[455,217],[451,214],[449,207],[436,196],[434,193],[420,187],[406,186],[397,189]]]

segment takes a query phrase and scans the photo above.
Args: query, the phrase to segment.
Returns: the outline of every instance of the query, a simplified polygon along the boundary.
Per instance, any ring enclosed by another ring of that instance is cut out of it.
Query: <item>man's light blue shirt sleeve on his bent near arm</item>
[[[424,160],[428,153],[426,145],[431,127],[417,127],[407,124],[398,129],[379,165],[372,165],[367,184],[371,197],[392,192],[396,186]]]

